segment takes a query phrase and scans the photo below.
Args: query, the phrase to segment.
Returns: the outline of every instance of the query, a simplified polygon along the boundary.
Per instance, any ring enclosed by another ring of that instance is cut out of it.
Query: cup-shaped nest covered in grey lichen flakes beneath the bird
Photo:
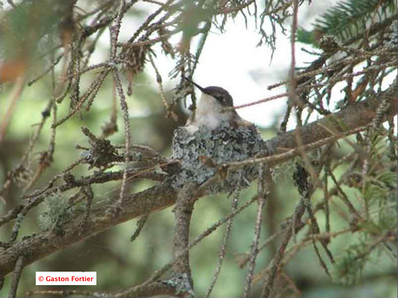
[[[216,165],[222,165],[255,157],[266,150],[266,143],[255,127],[234,128],[229,123],[224,123],[212,131],[200,127],[194,134],[179,127],[174,131],[173,159],[181,161],[181,169],[173,176],[172,185],[181,189],[187,183],[200,185],[213,177],[217,169],[204,165],[203,159],[211,159]],[[257,171],[256,166],[245,166],[232,171],[225,179],[211,185],[209,191],[231,192],[245,188],[257,176]]]

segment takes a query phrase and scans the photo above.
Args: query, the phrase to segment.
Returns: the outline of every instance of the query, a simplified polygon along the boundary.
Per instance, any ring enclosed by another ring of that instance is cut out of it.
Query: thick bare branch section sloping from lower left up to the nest
[[[62,236],[59,236],[60,233],[45,230],[34,236],[25,237],[7,249],[1,247],[0,276],[5,276],[11,272],[17,258],[22,254],[25,256],[23,260],[24,266],[29,265],[68,245],[94,236],[119,223],[138,217],[148,210],[156,211],[167,208],[173,205],[175,200],[175,190],[164,183],[126,197],[117,216],[113,216],[112,212],[107,212],[113,206],[112,201],[100,206],[93,205],[91,219],[88,220],[88,224],[85,226],[82,226],[84,214],[75,214],[75,218],[71,222],[62,226]]]

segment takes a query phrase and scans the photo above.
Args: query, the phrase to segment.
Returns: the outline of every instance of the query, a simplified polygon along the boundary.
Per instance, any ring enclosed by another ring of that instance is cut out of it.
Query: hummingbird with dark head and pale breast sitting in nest
[[[194,84],[202,92],[197,108],[192,111],[185,125],[191,134],[200,126],[214,130],[223,122],[228,122],[231,127],[235,128],[238,126],[254,127],[253,123],[241,118],[236,110],[227,109],[233,107],[233,99],[228,91],[217,86],[202,88],[185,76],[183,79]]]

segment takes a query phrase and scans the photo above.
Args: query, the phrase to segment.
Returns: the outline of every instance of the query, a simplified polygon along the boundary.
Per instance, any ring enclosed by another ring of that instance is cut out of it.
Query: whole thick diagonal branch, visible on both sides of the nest
[[[383,120],[397,115],[397,78],[386,91],[376,93],[370,99],[351,104],[333,115],[297,128],[302,137],[303,145],[330,137],[332,135],[330,131],[339,133],[372,123],[378,105],[382,99],[386,98],[390,107]],[[331,139],[330,142],[333,141]],[[269,144],[273,148],[279,149],[278,151],[297,147],[295,130],[272,138],[269,140]],[[290,158],[293,158],[293,156]],[[286,160],[280,160],[278,163],[283,161]],[[276,164],[274,163],[271,166],[274,165]],[[55,234],[46,230],[33,236],[24,237],[8,248],[1,247],[0,278],[12,272],[15,262],[21,255],[24,255],[23,266],[27,266],[68,245],[80,242],[109,227],[145,214],[148,210],[156,211],[171,206],[175,203],[176,196],[177,192],[167,182],[163,182],[143,192],[126,196],[118,216],[113,216],[111,212],[107,212],[113,205],[112,202],[107,202],[93,206],[92,217],[87,225],[82,225],[84,214],[75,214],[70,222],[62,226],[62,236],[59,236],[60,233]]]

